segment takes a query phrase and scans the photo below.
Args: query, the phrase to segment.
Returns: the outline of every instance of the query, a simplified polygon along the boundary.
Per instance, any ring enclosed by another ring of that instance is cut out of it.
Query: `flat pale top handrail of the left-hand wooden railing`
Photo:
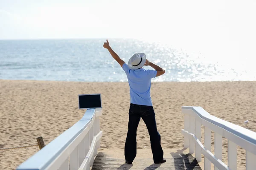
[[[75,125],[64,131],[60,136],[35,153],[27,161],[23,162],[17,170],[44,170],[54,161],[65,148],[79,136],[82,131],[92,122],[97,111],[102,109],[87,109],[84,116]]]

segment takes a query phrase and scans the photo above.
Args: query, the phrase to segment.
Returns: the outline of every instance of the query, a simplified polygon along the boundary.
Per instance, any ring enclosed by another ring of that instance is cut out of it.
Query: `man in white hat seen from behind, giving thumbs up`
[[[111,56],[119,63],[127,75],[130,86],[131,105],[129,109],[128,133],[125,142],[125,162],[132,164],[136,156],[137,149],[137,127],[140,118],[145,122],[150,136],[151,150],[154,163],[166,162],[163,158],[160,134],[157,131],[155,113],[150,96],[151,78],[163,75],[165,71],[158,65],[149,62],[144,53],[136,53],[126,64],[109,46],[109,42],[104,43]],[[149,65],[155,70],[145,70],[144,65]]]

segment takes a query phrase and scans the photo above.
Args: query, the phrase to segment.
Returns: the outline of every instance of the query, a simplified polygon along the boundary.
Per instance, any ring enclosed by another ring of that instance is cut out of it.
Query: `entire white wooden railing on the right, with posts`
[[[210,115],[201,107],[182,107],[185,114],[184,147],[195,153],[197,161],[204,155],[204,170],[237,169],[237,145],[246,150],[246,170],[256,170],[256,133]],[[204,125],[204,145],[201,143]],[[214,154],[211,153],[211,132],[214,131]],[[222,137],[228,139],[228,165],[222,162]]]

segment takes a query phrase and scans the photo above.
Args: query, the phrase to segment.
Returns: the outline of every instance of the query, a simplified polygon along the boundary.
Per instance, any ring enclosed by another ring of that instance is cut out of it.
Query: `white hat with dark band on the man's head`
[[[128,67],[132,70],[143,67],[146,62],[146,54],[135,53],[128,61]]]

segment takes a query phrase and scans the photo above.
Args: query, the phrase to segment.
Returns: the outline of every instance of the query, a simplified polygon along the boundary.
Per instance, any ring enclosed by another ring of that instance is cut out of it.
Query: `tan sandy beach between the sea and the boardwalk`
[[[78,94],[93,93],[102,94],[102,150],[123,149],[130,105],[127,82],[29,80],[0,80],[0,148],[36,144],[39,136],[51,142],[83,116],[85,110],[78,109]],[[253,81],[152,83],[151,97],[163,150],[183,148],[181,106],[201,106],[214,116],[256,131],[255,95]],[[245,120],[249,123],[244,124]],[[137,148],[150,149],[143,121],[137,131]],[[15,169],[38,150],[0,151],[0,170]],[[227,163],[227,139],[223,139],[223,161]],[[245,150],[240,147],[238,169],[245,169]]]

